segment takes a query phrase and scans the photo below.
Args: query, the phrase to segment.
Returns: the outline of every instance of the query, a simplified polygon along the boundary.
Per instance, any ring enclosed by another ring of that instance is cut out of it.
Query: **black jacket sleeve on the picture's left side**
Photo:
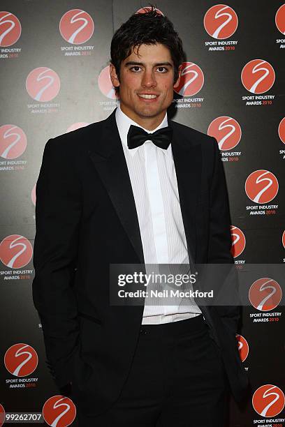
[[[61,140],[59,140],[61,142]],[[81,187],[68,148],[47,141],[36,183],[33,299],[54,381],[72,380],[79,353],[79,327],[73,280],[78,255]]]

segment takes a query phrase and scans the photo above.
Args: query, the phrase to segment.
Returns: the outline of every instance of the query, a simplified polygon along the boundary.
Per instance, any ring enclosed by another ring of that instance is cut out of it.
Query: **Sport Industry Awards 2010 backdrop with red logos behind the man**
[[[137,0],[1,0],[0,425],[4,412],[5,422],[76,425],[73,402],[60,406],[31,298],[35,185],[50,137],[105,119],[116,107],[110,40],[144,6]],[[187,54],[173,119],[219,143],[235,263],[239,269],[280,265],[285,4],[163,0],[156,6],[173,21]],[[280,281],[265,271],[249,283],[237,345],[252,400],[242,409],[231,403],[231,427],[285,426]]]

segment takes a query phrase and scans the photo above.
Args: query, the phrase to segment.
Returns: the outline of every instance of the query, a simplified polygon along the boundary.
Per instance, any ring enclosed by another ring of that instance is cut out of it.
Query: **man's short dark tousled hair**
[[[134,47],[156,45],[168,47],[173,60],[174,82],[178,78],[178,68],[185,60],[182,40],[168,17],[157,12],[154,6],[145,8],[145,13],[135,13],[115,32],[111,42],[111,63],[117,76],[122,61],[129,57]],[[115,88],[119,91],[119,88]]]

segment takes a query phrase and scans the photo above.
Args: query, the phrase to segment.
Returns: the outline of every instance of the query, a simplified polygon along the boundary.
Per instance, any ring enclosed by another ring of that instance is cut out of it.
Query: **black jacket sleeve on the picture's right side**
[[[210,237],[208,246],[208,264],[231,264],[217,268],[215,282],[221,283],[225,305],[217,305],[215,309],[226,327],[235,334],[240,319],[238,295],[238,275],[231,255],[231,218],[228,205],[228,193],[224,167],[221,162],[219,146],[214,143],[214,170],[210,190]],[[219,274],[221,277],[219,277]]]

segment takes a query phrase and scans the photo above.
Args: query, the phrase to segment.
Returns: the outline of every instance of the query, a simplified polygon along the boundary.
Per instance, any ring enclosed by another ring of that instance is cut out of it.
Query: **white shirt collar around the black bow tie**
[[[127,143],[129,128],[131,125],[138,126],[139,128],[142,128],[142,126],[140,126],[138,123],[136,123],[136,121],[133,121],[132,119],[129,118],[129,116],[124,114],[120,106],[118,106],[116,110],[116,122],[117,122],[117,128],[119,130],[119,136],[121,137],[122,144],[126,147],[126,149],[128,149],[129,153],[131,153],[131,155],[134,156],[134,154],[138,151],[140,147],[129,149],[128,143]],[[145,128],[142,128],[142,129],[145,130],[145,132],[147,133],[153,133],[158,129],[166,128],[167,126],[168,126],[168,119],[167,119],[167,113],[166,113],[163,121],[161,121],[161,123],[159,124],[159,126],[157,126],[157,128],[155,128],[154,130],[147,130]],[[169,144],[169,147],[166,150],[161,149],[163,153],[170,151],[170,146],[171,144]]]

